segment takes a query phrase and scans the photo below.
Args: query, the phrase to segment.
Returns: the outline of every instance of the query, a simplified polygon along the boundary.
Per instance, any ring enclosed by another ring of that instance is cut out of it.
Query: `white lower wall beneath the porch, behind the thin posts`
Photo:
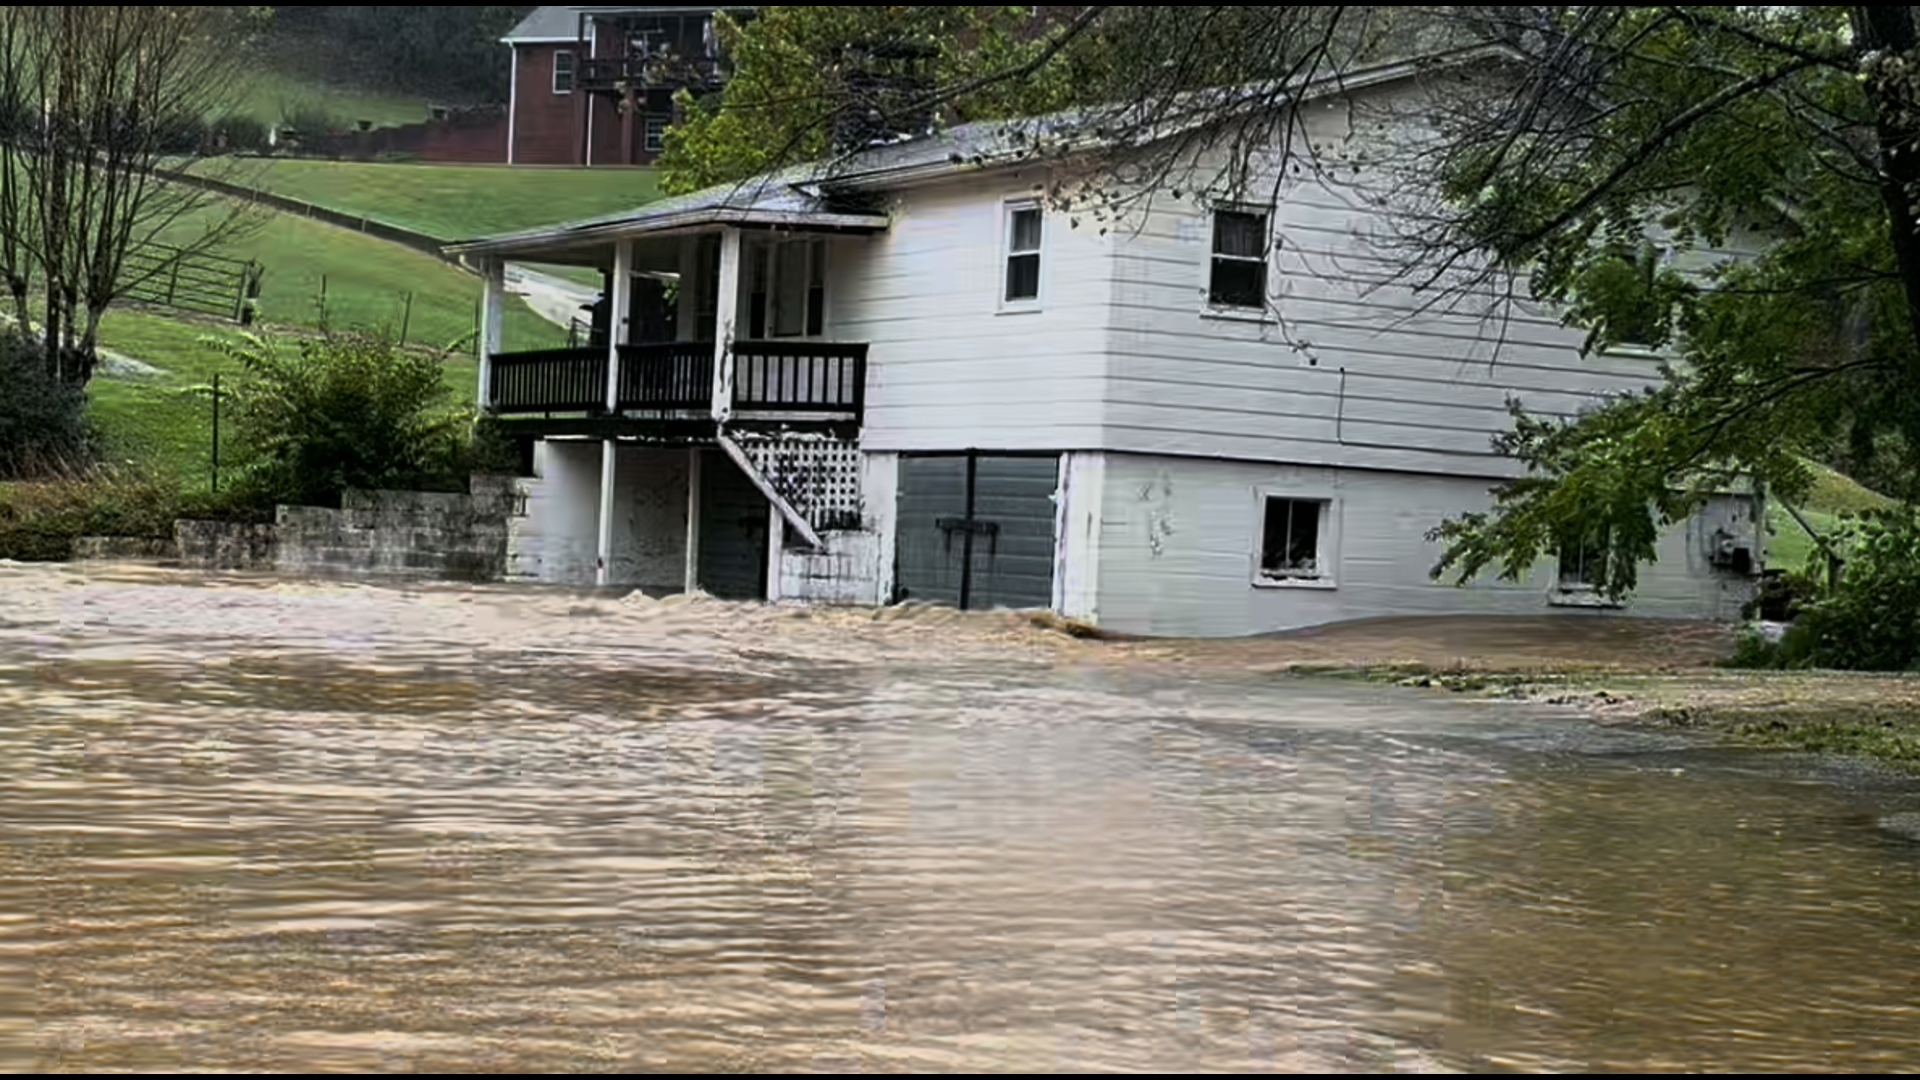
[[[601,444],[534,444],[526,517],[511,521],[507,578],[593,584],[599,563]],[[620,446],[614,457],[607,584],[680,592],[687,552],[687,452]]]

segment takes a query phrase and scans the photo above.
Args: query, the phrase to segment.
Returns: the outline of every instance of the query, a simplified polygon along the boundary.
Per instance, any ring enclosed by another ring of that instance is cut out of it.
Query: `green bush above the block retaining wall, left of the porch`
[[[255,336],[225,350],[244,367],[230,507],[340,505],[348,488],[467,490],[472,413],[453,404],[440,357],[359,332],[300,342],[296,356]]]

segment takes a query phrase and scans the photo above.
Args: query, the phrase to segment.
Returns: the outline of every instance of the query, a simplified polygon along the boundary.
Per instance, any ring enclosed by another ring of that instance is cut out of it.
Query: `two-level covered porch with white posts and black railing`
[[[826,209],[785,186],[739,198],[664,200],[614,219],[447,248],[486,284],[478,405],[534,446],[545,490],[540,511],[555,523],[530,527],[555,552],[536,559],[541,580],[651,588],[660,584],[659,557],[636,577],[622,550],[676,548],[680,586],[708,588],[703,559],[732,561],[737,571],[743,546],[756,544],[764,582],[756,594],[778,598],[783,546],[824,550],[816,532],[824,511],[845,519],[845,492],[801,494],[778,471],[770,475],[768,455],[743,444],[806,438],[826,446],[810,454],[828,455],[856,448],[868,344],[833,334],[831,267],[858,258],[862,238],[887,219]],[[603,300],[584,342],[499,348],[509,261],[601,275]],[[858,484],[856,469],[835,461]],[[668,482],[674,475],[680,480]],[[678,513],[659,513],[662,498],[676,502],[666,488],[678,492]],[[741,509],[743,492],[756,500],[753,509]],[[703,519],[703,494],[728,503],[724,521]],[[822,505],[808,505],[810,498]],[[749,519],[764,525],[739,525]],[[739,536],[720,544],[716,530]],[[589,534],[591,561],[580,557]],[[728,588],[747,598],[741,586]]]

